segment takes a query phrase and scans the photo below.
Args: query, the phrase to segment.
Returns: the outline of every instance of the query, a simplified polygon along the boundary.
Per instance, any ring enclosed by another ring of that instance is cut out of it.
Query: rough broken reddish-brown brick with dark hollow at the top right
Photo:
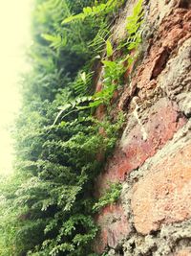
[[[147,97],[148,90],[157,86],[156,79],[171,55],[191,36],[190,19],[191,11],[177,9],[162,20],[147,57],[138,67],[138,76],[133,80],[141,89],[140,98]]]

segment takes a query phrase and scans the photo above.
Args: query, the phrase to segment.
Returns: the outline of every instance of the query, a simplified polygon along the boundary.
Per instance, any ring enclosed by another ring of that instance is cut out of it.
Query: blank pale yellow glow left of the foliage
[[[20,106],[19,74],[27,69],[31,0],[0,0],[0,174],[11,172],[13,119]]]

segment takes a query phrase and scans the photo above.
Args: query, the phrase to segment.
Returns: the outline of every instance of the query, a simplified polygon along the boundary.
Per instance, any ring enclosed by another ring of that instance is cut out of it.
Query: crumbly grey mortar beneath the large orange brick
[[[175,256],[178,251],[191,247],[190,239],[191,220],[164,225],[152,235],[135,232],[123,244],[124,256]]]

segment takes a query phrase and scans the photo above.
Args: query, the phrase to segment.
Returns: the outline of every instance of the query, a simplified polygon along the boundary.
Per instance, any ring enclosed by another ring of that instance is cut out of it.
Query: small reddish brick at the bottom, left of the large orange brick
[[[96,222],[101,227],[94,245],[97,253],[102,253],[107,245],[117,247],[130,232],[127,217],[119,204],[106,206],[97,216]]]

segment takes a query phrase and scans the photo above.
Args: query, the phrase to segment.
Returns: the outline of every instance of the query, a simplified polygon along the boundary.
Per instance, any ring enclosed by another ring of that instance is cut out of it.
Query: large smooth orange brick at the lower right
[[[191,145],[167,155],[133,188],[132,210],[141,234],[191,218]]]

